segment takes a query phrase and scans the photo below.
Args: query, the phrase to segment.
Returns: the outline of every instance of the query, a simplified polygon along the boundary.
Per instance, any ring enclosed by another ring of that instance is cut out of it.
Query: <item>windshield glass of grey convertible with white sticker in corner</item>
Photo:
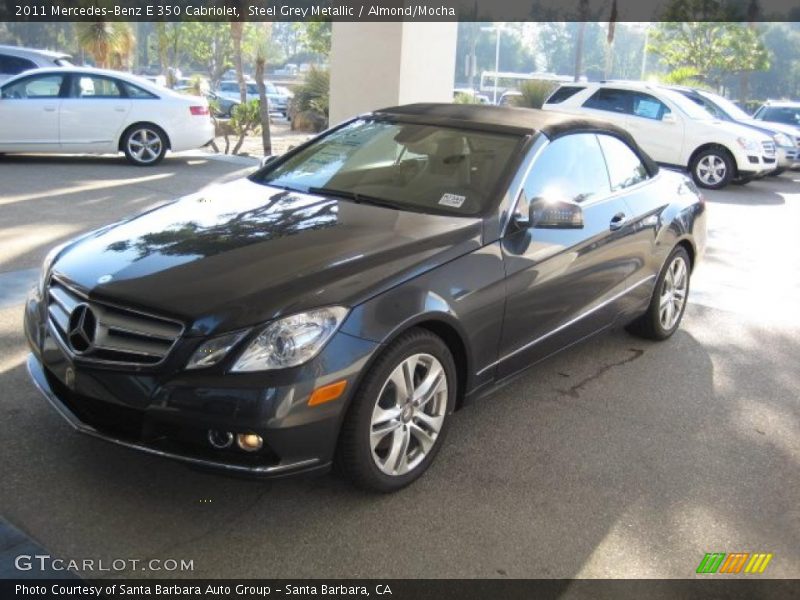
[[[359,119],[253,176],[257,183],[400,210],[477,215],[522,138]]]

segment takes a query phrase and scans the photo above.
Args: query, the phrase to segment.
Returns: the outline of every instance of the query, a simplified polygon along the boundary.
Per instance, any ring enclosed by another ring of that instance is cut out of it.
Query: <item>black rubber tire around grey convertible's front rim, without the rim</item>
[[[372,412],[378,394],[391,372],[403,360],[413,354],[427,353],[442,364],[447,378],[447,410],[442,428],[431,451],[424,460],[405,475],[391,476],[383,473],[372,458],[369,434]],[[450,415],[455,407],[458,377],[455,361],[441,338],[422,329],[412,329],[387,346],[386,350],[370,367],[353,398],[343,427],[342,448],[340,444],[339,466],[360,487],[379,492],[392,492],[403,488],[419,478],[430,466],[441,449],[450,424]]]

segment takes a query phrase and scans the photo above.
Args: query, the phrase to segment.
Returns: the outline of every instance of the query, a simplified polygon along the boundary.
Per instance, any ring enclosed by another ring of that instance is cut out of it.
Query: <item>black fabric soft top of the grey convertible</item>
[[[442,127],[461,127],[519,135],[542,133],[551,140],[568,133],[607,133],[628,144],[639,155],[651,176],[658,172],[658,165],[639,147],[627,131],[601,119],[576,117],[566,113],[535,108],[483,104],[406,104],[382,108],[372,114],[375,117],[385,116],[406,122],[441,125]]]

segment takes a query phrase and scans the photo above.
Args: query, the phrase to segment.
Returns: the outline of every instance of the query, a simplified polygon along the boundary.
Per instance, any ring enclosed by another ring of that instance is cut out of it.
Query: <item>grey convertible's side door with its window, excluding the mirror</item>
[[[554,193],[580,200],[583,226],[512,225],[504,236],[508,296],[500,378],[611,324],[636,268],[627,224],[631,210],[623,198],[611,195],[594,134],[570,135],[545,148],[520,201]]]

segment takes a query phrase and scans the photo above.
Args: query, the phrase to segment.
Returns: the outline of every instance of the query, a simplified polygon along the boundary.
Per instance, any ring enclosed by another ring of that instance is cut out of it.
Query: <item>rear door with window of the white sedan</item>
[[[131,106],[115,79],[74,76],[61,104],[62,146],[72,152],[116,150]]]

